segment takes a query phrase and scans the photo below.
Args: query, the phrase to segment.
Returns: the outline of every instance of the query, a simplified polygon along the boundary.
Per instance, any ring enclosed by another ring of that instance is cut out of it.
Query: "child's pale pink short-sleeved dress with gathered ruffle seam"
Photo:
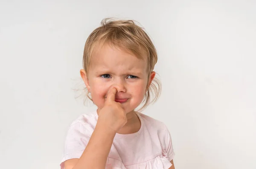
[[[132,134],[118,134],[113,140],[106,169],[169,169],[174,158],[172,139],[165,124],[142,113],[140,130]],[[98,114],[81,115],[70,125],[65,142],[64,161],[80,158],[95,129]]]

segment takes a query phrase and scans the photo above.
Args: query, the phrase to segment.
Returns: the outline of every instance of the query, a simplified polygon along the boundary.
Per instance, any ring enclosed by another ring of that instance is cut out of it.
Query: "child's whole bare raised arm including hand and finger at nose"
[[[126,113],[121,103],[115,102],[116,89],[112,88],[87,146],[81,157],[65,161],[65,169],[105,169],[116,132],[126,122]]]

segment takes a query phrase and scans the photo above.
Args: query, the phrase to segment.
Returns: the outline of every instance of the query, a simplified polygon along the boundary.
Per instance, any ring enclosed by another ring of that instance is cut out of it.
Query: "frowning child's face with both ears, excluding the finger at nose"
[[[110,45],[95,48],[87,74],[84,70],[80,73],[99,109],[104,107],[108,90],[115,87],[115,101],[121,102],[126,113],[140,105],[155,76],[155,72],[148,74],[146,59]]]

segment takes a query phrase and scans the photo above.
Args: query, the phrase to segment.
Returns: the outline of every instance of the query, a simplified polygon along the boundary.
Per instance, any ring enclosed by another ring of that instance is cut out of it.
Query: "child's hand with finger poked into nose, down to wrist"
[[[127,118],[121,103],[115,101],[115,96],[116,88],[111,88],[108,91],[105,105],[99,112],[97,126],[110,128],[116,133],[127,123]]]

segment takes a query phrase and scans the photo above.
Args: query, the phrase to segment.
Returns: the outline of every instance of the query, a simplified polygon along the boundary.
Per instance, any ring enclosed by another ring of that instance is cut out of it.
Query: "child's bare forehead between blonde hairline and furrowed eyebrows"
[[[139,59],[128,50],[113,45],[96,46],[91,56],[92,69],[147,72],[147,59]]]

